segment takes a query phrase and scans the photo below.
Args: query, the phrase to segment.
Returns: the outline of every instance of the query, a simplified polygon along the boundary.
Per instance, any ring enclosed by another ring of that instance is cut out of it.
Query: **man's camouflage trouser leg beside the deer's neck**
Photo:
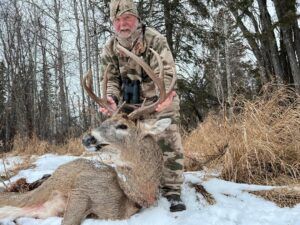
[[[164,197],[179,195],[183,183],[183,148],[177,124],[172,124],[158,137],[158,144],[163,151],[164,169],[161,182]]]

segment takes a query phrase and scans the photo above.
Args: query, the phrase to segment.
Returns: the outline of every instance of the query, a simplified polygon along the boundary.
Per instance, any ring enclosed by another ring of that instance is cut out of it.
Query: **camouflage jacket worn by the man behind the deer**
[[[152,28],[145,28],[144,34],[141,35],[134,45],[131,52],[135,53],[137,56],[143,58],[143,60],[150,65],[155,74],[159,74],[158,62],[149,50],[149,48],[154,49],[160,56],[164,66],[164,82],[166,90],[171,83],[173,74],[175,71],[175,63],[168,46],[166,38],[161,35],[158,31]],[[108,70],[108,84],[107,84],[107,95],[114,96],[118,101],[123,98],[123,82],[124,78],[129,78],[130,80],[140,81],[140,100],[141,102],[146,99],[153,99],[153,97],[159,94],[153,81],[150,77],[143,71],[143,69],[135,63],[132,59],[122,54],[116,49],[116,44],[118,40],[116,37],[112,37],[105,45],[103,53],[101,55],[101,66],[102,75],[106,70],[108,64],[112,64]],[[101,89],[103,90],[103,88]],[[172,107],[164,110],[163,114],[169,114],[171,112],[174,115],[179,111],[179,99],[176,96],[174,98]],[[168,113],[169,112],[169,113]]]

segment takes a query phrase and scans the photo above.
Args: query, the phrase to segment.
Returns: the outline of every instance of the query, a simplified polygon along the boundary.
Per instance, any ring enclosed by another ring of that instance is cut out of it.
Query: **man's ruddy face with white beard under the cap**
[[[126,13],[118,16],[113,22],[116,34],[121,38],[129,38],[138,25],[138,18]]]

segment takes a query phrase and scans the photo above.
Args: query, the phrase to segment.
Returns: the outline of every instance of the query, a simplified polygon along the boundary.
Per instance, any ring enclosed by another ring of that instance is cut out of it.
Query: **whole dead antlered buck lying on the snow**
[[[100,158],[107,155],[109,160],[79,158],[58,167],[37,189],[0,193],[0,219],[61,216],[62,225],[80,225],[89,216],[127,219],[141,208],[155,205],[163,167],[162,151],[155,137],[170,126],[171,119],[138,119],[153,113],[164,101],[174,88],[176,77],[165,90],[162,61],[157,52],[151,49],[161,68],[159,75],[122,46],[118,49],[135,60],[154,81],[160,92],[158,100],[151,104],[127,104],[133,110],[130,114],[122,113],[126,103],[120,104],[111,117],[83,136],[86,150]],[[107,69],[104,84],[107,86]],[[93,92],[91,71],[84,76],[82,85],[99,106],[111,110],[106,88],[102,98]]]

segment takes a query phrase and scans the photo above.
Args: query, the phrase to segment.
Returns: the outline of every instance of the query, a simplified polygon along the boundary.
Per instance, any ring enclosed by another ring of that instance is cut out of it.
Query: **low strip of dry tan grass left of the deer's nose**
[[[12,154],[15,155],[43,155],[46,153],[81,155],[83,152],[84,148],[80,138],[71,138],[66,144],[55,145],[42,141],[36,136],[31,139],[16,136],[12,149]]]

